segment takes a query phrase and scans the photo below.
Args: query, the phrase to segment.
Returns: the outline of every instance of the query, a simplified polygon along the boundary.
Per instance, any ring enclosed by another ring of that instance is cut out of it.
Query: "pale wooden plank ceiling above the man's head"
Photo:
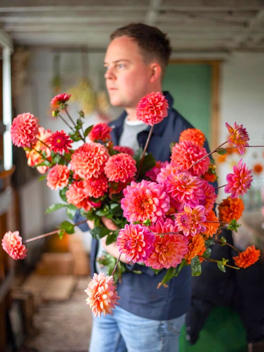
[[[177,52],[264,52],[264,0],[0,1],[0,27],[15,44],[101,51],[131,22],[168,33]]]

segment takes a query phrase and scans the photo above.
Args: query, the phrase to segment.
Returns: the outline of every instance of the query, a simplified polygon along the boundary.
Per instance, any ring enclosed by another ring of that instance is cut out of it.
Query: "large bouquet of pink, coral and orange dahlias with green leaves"
[[[168,102],[161,93],[148,94],[138,103],[137,118],[151,128],[144,150],[136,152],[113,146],[112,129],[105,123],[83,130],[84,114],[80,111],[75,122],[67,109],[69,99],[70,95],[59,94],[51,101],[55,106],[52,115],[70,127],[69,135],[63,130],[45,130],[30,113],[18,115],[11,128],[13,144],[24,148],[28,164],[46,173],[41,178],[46,178],[48,187],[59,189],[63,202],[51,205],[47,212],[65,207],[73,220],[79,209],[86,220],[94,221],[93,237],[100,240],[106,236],[106,245],[117,241],[120,256],[124,253],[128,262],[150,266],[156,273],[165,268],[159,286],[166,287],[184,265],[190,264],[192,275],[197,276],[204,260],[216,263],[223,272],[226,267],[246,268],[258,260],[260,251],[254,246],[244,252],[237,250],[233,265],[227,264],[225,258],[210,258],[210,246],[229,245],[219,237],[221,228],[237,231],[240,226],[237,220],[244,206],[239,196],[252,182],[251,170],[241,159],[233,173],[227,175],[227,184],[221,186],[230,195],[218,205],[216,216],[217,188],[209,182],[216,181],[217,176],[210,155],[226,153],[222,147],[225,143],[232,143],[234,146],[229,148],[243,154],[250,147],[243,125],[226,124],[230,138],[211,153],[203,147],[204,134],[189,128],[181,133],[178,143],[171,143],[170,162],[161,162],[146,154],[153,126],[167,116]],[[73,149],[72,144],[79,140],[83,144]],[[102,217],[111,219],[116,230],[107,228]],[[23,259],[27,242],[51,234],[72,234],[78,224],[63,221],[58,230],[24,242],[18,231],[9,231],[2,246],[13,259]],[[88,285],[87,303],[95,316],[112,313],[120,298],[116,284],[125,271],[120,256],[114,262],[109,256],[101,259],[101,263],[112,265],[110,275],[95,274]]]

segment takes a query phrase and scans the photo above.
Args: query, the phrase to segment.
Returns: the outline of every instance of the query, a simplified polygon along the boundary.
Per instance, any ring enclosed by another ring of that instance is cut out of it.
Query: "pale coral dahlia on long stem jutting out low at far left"
[[[13,259],[25,259],[27,249],[22,244],[22,237],[19,236],[19,231],[8,231],[2,238],[3,250]]]

